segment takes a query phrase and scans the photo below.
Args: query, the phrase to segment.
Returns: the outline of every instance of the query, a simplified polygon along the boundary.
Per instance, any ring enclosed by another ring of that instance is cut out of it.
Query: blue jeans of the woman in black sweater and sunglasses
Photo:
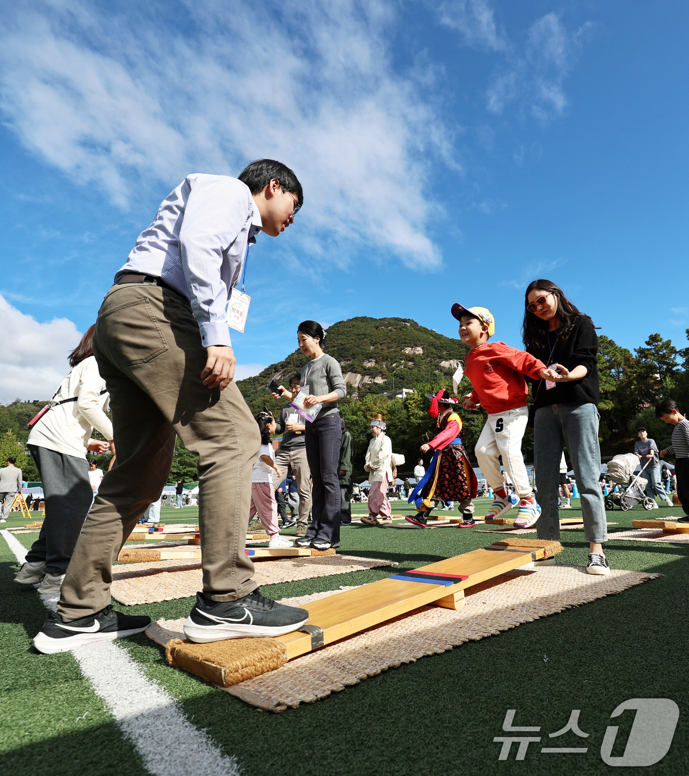
[[[533,462],[536,468],[536,500],[541,516],[536,523],[539,539],[560,539],[557,491],[563,445],[572,459],[581,499],[584,536],[587,542],[608,540],[605,505],[598,477],[601,448],[595,404],[551,404],[536,410],[533,426]]]

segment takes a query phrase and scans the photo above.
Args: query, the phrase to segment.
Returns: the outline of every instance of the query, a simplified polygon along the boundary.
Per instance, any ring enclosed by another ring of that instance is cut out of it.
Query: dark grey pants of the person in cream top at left
[[[29,445],[29,450],[43,483],[46,517],[26,560],[45,561],[47,573],[64,574],[93,501],[88,462],[47,447]]]

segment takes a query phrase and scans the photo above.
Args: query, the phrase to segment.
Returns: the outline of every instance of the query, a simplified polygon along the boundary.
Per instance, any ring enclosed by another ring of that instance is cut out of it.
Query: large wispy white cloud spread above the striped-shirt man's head
[[[481,35],[497,41],[479,6]],[[52,0],[8,12],[0,90],[22,143],[120,207],[142,186],[279,158],[305,189],[291,238],[302,256],[346,262],[373,246],[439,265],[429,169],[457,166],[453,133],[426,97],[428,68],[393,67],[394,5],[189,2],[184,29],[167,8],[108,16]]]

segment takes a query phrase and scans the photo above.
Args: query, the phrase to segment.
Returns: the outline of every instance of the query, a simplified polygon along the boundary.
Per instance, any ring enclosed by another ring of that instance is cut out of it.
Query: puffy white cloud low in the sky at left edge
[[[40,324],[0,296],[0,402],[50,399],[70,366],[81,334],[67,318]]]

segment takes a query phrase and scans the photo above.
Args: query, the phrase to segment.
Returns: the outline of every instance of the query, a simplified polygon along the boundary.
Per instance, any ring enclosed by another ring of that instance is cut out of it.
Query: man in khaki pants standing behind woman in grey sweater
[[[295,375],[290,380],[290,390],[293,396],[299,393],[301,386],[301,376]],[[291,466],[297,479],[297,490],[299,494],[299,518],[297,520],[297,535],[306,534],[308,525],[308,513],[311,511],[311,471],[308,468],[306,460],[306,443],[304,440],[304,431],[306,426],[294,407],[285,404],[280,412],[280,416],[275,419],[276,430],[282,434],[280,447],[275,451],[275,463],[282,470],[287,472],[288,466]],[[280,478],[275,474],[273,476],[273,485],[277,490],[280,484]]]

